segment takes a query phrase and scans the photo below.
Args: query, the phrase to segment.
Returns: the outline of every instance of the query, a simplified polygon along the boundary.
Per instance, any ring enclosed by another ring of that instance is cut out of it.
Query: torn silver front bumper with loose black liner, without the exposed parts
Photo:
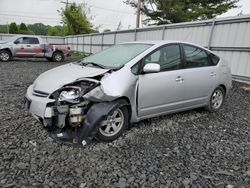
[[[53,124],[52,119],[58,114],[54,111],[55,100],[48,97],[33,95],[31,85],[25,95],[28,111],[43,124],[50,136],[58,141],[84,146],[90,142],[98,131],[100,123],[116,108],[128,105],[127,101],[120,99],[112,102],[100,102],[93,104],[84,115],[81,125],[75,129],[69,126],[59,128]],[[61,106],[62,107],[62,106]],[[57,106],[58,109],[58,106]],[[65,115],[67,112],[63,112]],[[58,124],[58,122],[57,122]]]

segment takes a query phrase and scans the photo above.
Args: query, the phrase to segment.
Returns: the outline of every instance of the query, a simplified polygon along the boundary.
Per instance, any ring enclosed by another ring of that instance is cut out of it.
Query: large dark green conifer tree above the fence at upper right
[[[125,3],[137,8],[137,0]],[[142,0],[141,11],[146,15],[145,23],[157,25],[216,17],[236,8],[239,0]]]

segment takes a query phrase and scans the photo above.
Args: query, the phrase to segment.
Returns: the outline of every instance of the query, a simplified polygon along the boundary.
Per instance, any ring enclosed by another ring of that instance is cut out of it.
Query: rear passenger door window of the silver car
[[[204,67],[211,65],[209,56],[207,55],[205,50],[185,44],[183,45],[183,48],[186,59],[186,68]]]

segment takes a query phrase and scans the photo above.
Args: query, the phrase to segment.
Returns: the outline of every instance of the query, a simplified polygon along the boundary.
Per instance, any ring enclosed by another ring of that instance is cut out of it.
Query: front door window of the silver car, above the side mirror
[[[181,66],[180,47],[178,44],[172,44],[160,48],[145,58],[145,64],[158,63],[161,71],[177,70]]]

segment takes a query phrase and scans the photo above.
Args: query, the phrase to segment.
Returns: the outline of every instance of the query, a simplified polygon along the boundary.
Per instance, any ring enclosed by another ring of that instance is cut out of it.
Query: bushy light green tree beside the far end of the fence
[[[63,23],[67,28],[69,35],[93,33],[92,24],[89,22],[82,5],[71,4],[62,9]]]

